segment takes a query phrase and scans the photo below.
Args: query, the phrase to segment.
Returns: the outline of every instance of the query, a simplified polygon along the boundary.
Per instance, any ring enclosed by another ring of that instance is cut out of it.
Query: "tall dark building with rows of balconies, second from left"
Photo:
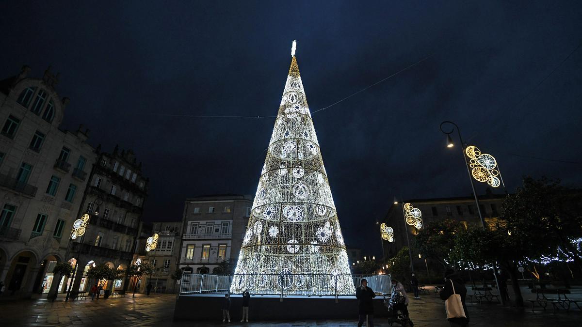
[[[113,152],[95,150],[97,160],[88,176],[80,214],[90,215],[86,233],[73,242],[69,258],[79,260],[73,290],[89,287],[87,271],[91,265],[107,264],[126,269],[139,251],[141,215],[147,198],[148,179],[141,173],[132,150]],[[74,259],[73,259],[74,260]],[[126,290],[127,280],[109,280],[106,290]]]

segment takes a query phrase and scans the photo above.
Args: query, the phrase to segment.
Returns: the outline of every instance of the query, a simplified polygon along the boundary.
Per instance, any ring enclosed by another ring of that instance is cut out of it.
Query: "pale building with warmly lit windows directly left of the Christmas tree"
[[[179,267],[211,273],[222,261],[236,265],[253,199],[236,194],[188,198],[182,219]]]

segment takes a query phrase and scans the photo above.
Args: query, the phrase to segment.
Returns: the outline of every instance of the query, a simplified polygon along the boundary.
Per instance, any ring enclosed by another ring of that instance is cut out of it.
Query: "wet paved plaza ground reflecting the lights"
[[[526,298],[535,298],[524,287]],[[582,298],[582,289],[572,290],[572,298]],[[533,296],[533,297],[532,297]],[[172,294],[131,295],[125,298],[108,298],[107,300],[81,300],[64,302],[59,298],[55,302],[46,298],[34,300],[0,301],[0,325],[2,326],[356,326],[353,321],[271,321],[254,322],[252,306],[251,322],[231,322],[223,324],[220,308],[217,308],[217,320],[211,322],[174,322],[172,321],[176,296]],[[543,311],[536,308],[531,312],[531,305],[526,301],[526,308],[520,310],[512,306],[499,304],[468,303],[471,326],[580,326],[582,312],[576,308],[570,311],[559,310],[553,313],[551,308]],[[317,308],[314,308],[317,310]],[[443,301],[434,293],[423,294],[420,299],[410,299],[410,318],[414,326],[449,326],[445,320]],[[357,308],[354,308],[354,313]],[[196,308],[192,308],[196,314]],[[388,326],[386,319],[377,319],[377,326]]]

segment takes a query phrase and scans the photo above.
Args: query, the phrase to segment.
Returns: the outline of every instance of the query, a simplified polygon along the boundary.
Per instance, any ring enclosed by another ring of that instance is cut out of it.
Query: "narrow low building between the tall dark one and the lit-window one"
[[[176,280],[172,279],[172,274],[178,269],[179,264],[182,221],[151,224],[151,234],[158,234],[158,244],[154,250],[145,253],[145,260],[154,266],[154,272],[151,276],[144,276],[140,292],[145,292],[145,287],[151,282],[151,292],[174,293]],[[145,244],[143,247],[145,248]]]

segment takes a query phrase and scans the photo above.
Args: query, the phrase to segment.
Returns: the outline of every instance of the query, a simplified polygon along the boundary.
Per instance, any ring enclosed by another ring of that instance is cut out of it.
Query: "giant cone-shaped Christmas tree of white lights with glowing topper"
[[[230,292],[354,294],[294,51]]]

